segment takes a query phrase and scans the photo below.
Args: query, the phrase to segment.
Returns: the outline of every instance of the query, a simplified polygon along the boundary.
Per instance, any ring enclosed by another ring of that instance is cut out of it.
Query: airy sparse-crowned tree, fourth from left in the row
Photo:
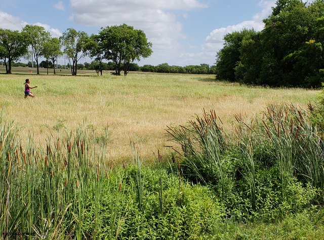
[[[60,41],[64,48],[64,53],[69,58],[71,74],[72,76],[76,76],[77,61],[87,54],[89,36],[84,31],[76,31],[73,28],[68,28],[63,32],[62,37],[60,37]],[[72,64],[70,60],[72,60]]]

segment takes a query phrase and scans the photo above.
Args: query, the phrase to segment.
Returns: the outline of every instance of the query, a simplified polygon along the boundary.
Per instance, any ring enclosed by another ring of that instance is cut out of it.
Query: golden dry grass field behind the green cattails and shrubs
[[[85,123],[98,140],[109,143],[108,158],[119,161],[130,158],[130,141],[146,159],[152,159],[157,149],[167,152],[163,147],[170,145],[167,126],[184,124],[195,114],[201,115],[204,108],[214,109],[230,129],[235,114],[253,116],[269,104],[305,106],[318,92],[240,86],[214,81],[212,75],[98,77],[94,71],[80,71],[80,76],[72,77],[46,75],[44,71],[38,76],[36,71],[24,75],[21,68],[14,68],[13,75],[0,75],[0,107],[5,106],[5,116],[14,120],[20,136],[26,138],[32,132],[44,143],[49,133],[63,138],[64,129]],[[31,86],[38,86],[32,89],[34,99],[23,97],[26,78]]]

